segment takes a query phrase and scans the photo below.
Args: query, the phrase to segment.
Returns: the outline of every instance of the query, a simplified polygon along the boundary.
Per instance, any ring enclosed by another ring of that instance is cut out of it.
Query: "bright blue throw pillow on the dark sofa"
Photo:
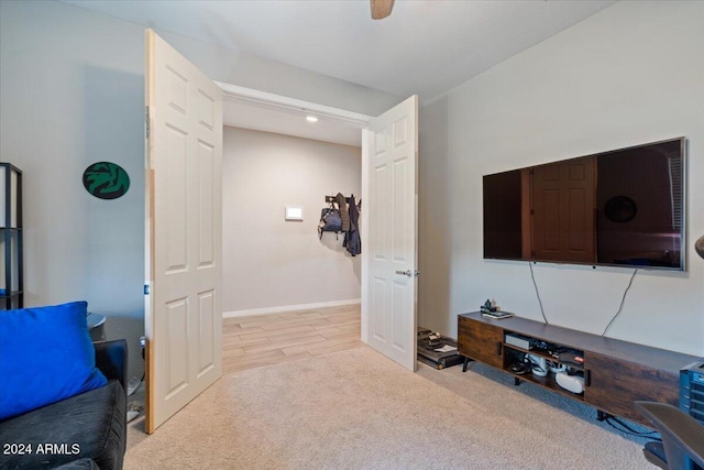
[[[0,420],[108,383],[96,369],[88,304],[0,311]]]

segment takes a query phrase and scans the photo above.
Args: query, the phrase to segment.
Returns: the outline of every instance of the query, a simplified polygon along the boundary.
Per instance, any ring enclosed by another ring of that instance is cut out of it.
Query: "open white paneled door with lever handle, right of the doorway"
[[[415,371],[417,96],[370,121],[362,160],[362,340]]]

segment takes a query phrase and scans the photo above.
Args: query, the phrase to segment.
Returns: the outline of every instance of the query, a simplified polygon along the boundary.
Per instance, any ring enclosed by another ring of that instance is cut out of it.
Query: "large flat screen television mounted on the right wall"
[[[684,271],[685,146],[485,175],[484,258]]]

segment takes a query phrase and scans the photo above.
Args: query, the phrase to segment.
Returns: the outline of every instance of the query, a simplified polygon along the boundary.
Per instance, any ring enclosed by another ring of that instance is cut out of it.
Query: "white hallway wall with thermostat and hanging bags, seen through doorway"
[[[223,311],[359,300],[361,256],[317,232],[324,196],[361,194],[359,147],[226,128],[222,185]]]

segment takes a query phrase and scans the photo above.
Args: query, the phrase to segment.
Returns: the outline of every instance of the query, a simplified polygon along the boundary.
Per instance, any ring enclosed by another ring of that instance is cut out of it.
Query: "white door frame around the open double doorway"
[[[241,87],[238,85],[226,84],[222,81],[213,80],[223,92],[224,105],[228,100],[246,100],[262,105],[270,106],[272,108],[278,108],[280,110],[296,110],[311,112],[318,116],[323,116],[329,119],[337,119],[352,124],[360,129],[362,135],[362,196],[360,200],[369,200],[369,142],[367,134],[365,132],[370,121],[374,119],[374,116],[362,114],[354,111],[349,111],[341,108],[334,108],[330,106],[319,105],[310,101],[305,101],[297,98],[289,98],[283,95],[271,94],[267,91],[255,90],[253,88]],[[362,210],[361,226],[369,227],[369,211]],[[369,247],[369,230],[362,230],[360,233],[362,247]],[[364,343],[369,343],[369,289],[366,288],[366,282],[369,280],[369,250],[362,250],[362,276],[361,276],[361,310],[362,310],[362,325],[361,325],[361,339]]]

